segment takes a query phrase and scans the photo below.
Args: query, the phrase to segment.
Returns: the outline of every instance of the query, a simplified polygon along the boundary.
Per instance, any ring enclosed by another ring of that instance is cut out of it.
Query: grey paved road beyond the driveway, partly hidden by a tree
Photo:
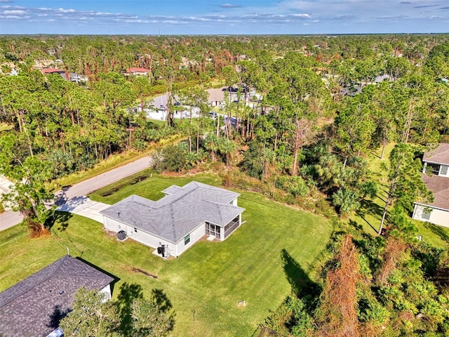
[[[105,187],[118,180],[133,175],[139,171],[145,170],[151,164],[151,158],[145,157],[133,161],[130,164],[126,164],[111,171],[100,174],[99,176],[90,178],[88,180],[81,181],[73,186],[65,187],[62,191],[58,191],[56,194],[62,196],[62,199],[58,199],[56,204],[62,206],[62,204],[69,203],[72,199],[80,199],[85,197],[95,190]],[[5,211],[0,214],[0,230],[6,230],[6,228],[13,227],[22,221],[22,215],[11,210]]]

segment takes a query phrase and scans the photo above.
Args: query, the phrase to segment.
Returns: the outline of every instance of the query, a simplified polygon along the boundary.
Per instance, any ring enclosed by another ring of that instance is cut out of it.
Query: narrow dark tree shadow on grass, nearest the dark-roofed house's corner
[[[120,293],[117,297],[121,316],[121,330],[126,336],[129,335],[133,325],[131,324],[131,306],[133,300],[143,298],[142,286],[140,284],[125,282],[120,287]]]

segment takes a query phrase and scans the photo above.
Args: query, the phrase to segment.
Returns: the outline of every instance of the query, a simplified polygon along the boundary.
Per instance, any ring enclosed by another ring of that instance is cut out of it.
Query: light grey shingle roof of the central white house
[[[177,243],[203,221],[225,226],[244,211],[230,204],[239,193],[196,181],[162,192],[167,195],[158,201],[131,195],[100,213]]]

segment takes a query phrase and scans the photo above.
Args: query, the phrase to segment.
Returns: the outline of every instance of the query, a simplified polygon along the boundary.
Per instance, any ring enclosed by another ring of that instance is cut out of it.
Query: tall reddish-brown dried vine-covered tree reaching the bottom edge
[[[323,337],[358,337],[356,284],[361,275],[351,235],[344,237],[335,260],[337,267],[328,272],[323,289],[317,333]]]

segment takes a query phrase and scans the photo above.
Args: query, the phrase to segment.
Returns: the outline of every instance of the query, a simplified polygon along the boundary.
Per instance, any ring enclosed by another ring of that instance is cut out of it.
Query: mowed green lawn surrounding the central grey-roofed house
[[[158,199],[163,188],[191,180],[219,185],[212,175],[194,179],[154,175],[108,197],[100,197],[101,190],[91,197],[108,203],[130,194]],[[142,286],[147,298],[153,289],[161,289],[175,312],[173,336],[251,336],[269,309],[290,293],[288,280],[307,277],[333,227],[321,216],[257,194],[243,192],[239,206],[246,208],[242,216],[246,223],[225,242],[197,242],[179,258],[166,261],[142,244],[117,242],[100,223],[79,216],[58,220],[54,234],[41,239],[29,239],[24,227],[12,227],[0,238],[0,290],[65,255],[69,247],[72,256],[82,256],[119,277],[114,297],[125,283]],[[237,308],[239,300],[246,300],[245,308]]]

